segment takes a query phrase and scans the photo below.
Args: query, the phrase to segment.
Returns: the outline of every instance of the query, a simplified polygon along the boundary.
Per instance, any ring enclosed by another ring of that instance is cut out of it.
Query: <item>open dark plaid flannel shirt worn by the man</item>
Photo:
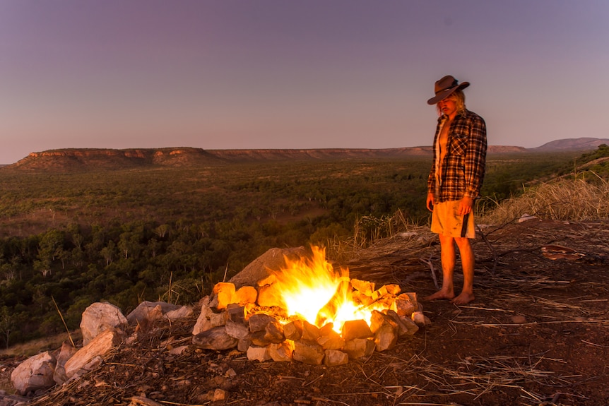
[[[478,114],[466,110],[453,120],[447,141],[447,152],[442,162],[442,174],[436,193],[437,142],[446,119],[438,119],[434,137],[434,164],[427,179],[427,190],[434,193],[435,201],[458,201],[464,196],[478,198],[484,179],[486,162],[486,123]]]

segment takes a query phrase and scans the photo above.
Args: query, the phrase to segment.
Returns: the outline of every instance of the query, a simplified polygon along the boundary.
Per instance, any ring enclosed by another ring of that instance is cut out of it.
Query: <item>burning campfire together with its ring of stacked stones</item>
[[[317,247],[310,258],[286,256],[285,267],[255,285],[215,285],[193,331],[197,347],[236,347],[259,361],[333,366],[389,350],[429,323],[414,292],[351,279]]]

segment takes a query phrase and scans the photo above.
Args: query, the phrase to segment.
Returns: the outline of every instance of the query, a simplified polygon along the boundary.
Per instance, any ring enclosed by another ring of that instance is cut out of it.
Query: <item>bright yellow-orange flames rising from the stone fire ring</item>
[[[290,261],[286,268],[276,273],[276,292],[289,316],[299,316],[321,328],[333,323],[340,333],[345,321],[364,320],[370,323],[372,310],[381,304],[365,306],[352,297],[348,269],[340,273],[325,259],[325,250],[312,246],[313,256]]]

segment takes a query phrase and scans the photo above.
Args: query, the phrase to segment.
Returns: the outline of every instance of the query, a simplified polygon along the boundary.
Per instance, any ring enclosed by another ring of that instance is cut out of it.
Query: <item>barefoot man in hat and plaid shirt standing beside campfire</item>
[[[468,111],[463,89],[453,76],[435,83],[435,96],[427,104],[436,105],[439,119],[434,137],[434,163],[427,179],[427,209],[432,211],[432,232],[439,236],[442,259],[442,289],[427,297],[466,304],[473,294],[475,238],[473,204],[480,196],[485,172],[486,124]],[[463,268],[463,289],[455,297],[453,273],[455,244]]]

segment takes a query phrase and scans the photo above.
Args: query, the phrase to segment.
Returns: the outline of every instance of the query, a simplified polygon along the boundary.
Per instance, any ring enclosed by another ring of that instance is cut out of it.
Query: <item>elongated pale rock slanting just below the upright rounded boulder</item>
[[[92,370],[100,362],[107,352],[112,350],[122,342],[124,333],[116,328],[109,328],[97,335],[91,342],[82,347],[66,361],[64,368],[66,376],[71,379],[73,376]]]

